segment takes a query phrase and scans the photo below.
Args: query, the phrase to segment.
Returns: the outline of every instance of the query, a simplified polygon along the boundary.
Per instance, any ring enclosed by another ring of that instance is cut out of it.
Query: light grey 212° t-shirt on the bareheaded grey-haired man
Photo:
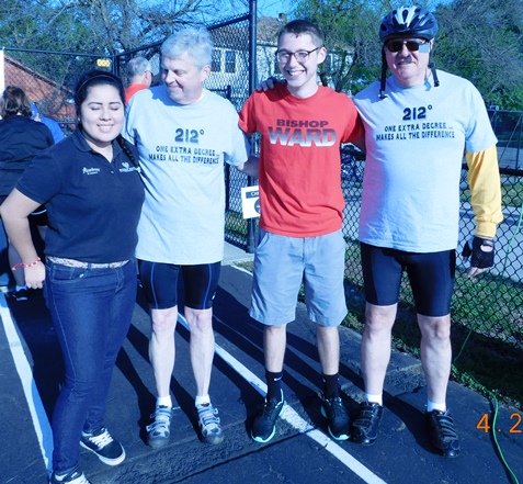
[[[158,86],[130,99],[125,121],[123,136],[138,148],[146,188],[136,257],[220,261],[224,162],[241,165],[250,151],[232,104],[208,90],[193,104],[178,104]]]

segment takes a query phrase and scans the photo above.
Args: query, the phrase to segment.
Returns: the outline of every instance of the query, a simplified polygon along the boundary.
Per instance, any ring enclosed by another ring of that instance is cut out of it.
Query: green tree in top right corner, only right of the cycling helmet
[[[436,16],[437,67],[469,79],[488,105],[523,110],[523,1],[456,0]]]

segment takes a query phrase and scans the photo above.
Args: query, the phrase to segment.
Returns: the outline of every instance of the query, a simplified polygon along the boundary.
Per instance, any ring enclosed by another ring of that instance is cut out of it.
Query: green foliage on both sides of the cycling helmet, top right
[[[320,69],[323,85],[356,93],[378,78],[382,67],[377,30],[384,14],[401,1],[298,0],[294,18],[320,25],[337,61]],[[405,2],[408,4],[410,2]],[[414,3],[414,2],[412,2]],[[523,1],[420,1],[434,11],[440,34],[437,68],[469,79],[485,102],[523,109]]]

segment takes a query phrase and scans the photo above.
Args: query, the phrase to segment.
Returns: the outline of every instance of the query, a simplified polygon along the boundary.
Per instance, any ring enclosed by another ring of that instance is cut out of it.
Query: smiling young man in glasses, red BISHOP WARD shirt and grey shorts
[[[349,438],[349,415],[339,391],[339,325],[346,315],[340,144],[363,138],[363,125],[348,95],[318,86],[318,66],[326,57],[317,25],[306,20],[287,23],[276,50],[286,82],[254,92],[240,112],[240,127],[262,135],[250,315],[264,325],[268,393],[250,431],[257,442],[274,437],[284,406],[286,330],[295,319],[302,281],[318,338],[321,412],[336,440]]]

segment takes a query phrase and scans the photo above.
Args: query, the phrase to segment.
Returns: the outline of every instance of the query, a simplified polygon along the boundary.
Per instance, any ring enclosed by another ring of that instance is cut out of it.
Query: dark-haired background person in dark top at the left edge
[[[54,145],[49,128],[33,121],[31,114],[25,92],[19,87],[8,86],[0,98],[0,203],[9,195],[33,157]],[[31,224],[38,227],[43,238],[47,225],[44,207],[36,210]],[[15,301],[26,301],[29,292],[20,255],[10,244],[9,237],[8,259],[16,284],[13,297]]]

